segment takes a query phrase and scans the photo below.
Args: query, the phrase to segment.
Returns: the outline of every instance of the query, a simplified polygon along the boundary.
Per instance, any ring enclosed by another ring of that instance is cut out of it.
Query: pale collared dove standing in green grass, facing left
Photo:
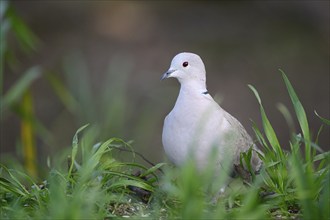
[[[182,166],[193,157],[198,170],[203,170],[215,152],[216,172],[236,177],[244,175],[240,172],[242,168],[247,171],[240,163],[240,155],[251,148],[251,167],[253,172],[259,172],[262,152],[242,124],[209,94],[205,65],[200,56],[190,52],[177,54],[161,80],[167,78],[176,78],[180,83],[175,105],[163,124],[162,143],[168,159]],[[222,166],[228,158],[229,171]]]

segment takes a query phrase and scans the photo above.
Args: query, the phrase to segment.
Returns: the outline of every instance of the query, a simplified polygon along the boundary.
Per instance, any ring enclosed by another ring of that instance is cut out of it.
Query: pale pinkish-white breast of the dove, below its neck
[[[203,166],[211,147],[219,145],[222,126],[221,112],[211,104],[177,102],[164,121],[165,153],[176,165],[193,155],[198,165]]]

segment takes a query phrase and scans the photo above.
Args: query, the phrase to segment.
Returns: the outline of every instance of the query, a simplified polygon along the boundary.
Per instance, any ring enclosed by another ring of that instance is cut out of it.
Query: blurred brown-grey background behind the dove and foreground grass
[[[163,119],[179,85],[160,77],[183,51],[202,57],[209,92],[251,135],[261,120],[247,84],[283,146],[299,128],[278,110],[294,115],[279,68],[314,136],[314,110],[329,118],[329,1],[1,1],[0,12],[1,161],[32,161],[35,175],[87,123],[98,141],[133,140],[163,161]],[[328,127],[319,144],[329,150]]]

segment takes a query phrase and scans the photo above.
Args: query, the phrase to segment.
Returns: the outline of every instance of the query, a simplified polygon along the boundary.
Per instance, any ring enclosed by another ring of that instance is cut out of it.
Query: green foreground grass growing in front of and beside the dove
[[[212,166],[199,174],[191,161],[181,169],[163,163],[147,168],[134,162],[137,155],[128,143],[111,138],[95,145],[97,130],[83,126],[73,137],[69,157],[49,164],[51,171],[41,183],[1,165],[1,219],[329,219],[329,152],[318,146],[321,129],[312,137],[304,108],[282,76],[301,134],[292,135],[290,151],[282,150],[287,146],[280,145],[257,90],[250,86],[263,122],[262,129],[253,128],[264,167],[252,176],[253,183],[232,182],[217,203],[211,202],[214,193],[227,180],[213,177]],[[329,120],[318,117],[329,126]],[[123,151],[125,162],[116,156]],[[249,152],[242,154],[242,162],[249,160]]]

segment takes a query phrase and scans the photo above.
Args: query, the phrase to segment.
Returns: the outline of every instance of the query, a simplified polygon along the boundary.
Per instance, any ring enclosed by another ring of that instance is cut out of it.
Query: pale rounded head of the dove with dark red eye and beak
[[[163,74],[161,80],[170,77],[177,78],[181,84],[190,81],[205,83],[204,63],[197,54],[179,53],[173,58],[170,68]]]

